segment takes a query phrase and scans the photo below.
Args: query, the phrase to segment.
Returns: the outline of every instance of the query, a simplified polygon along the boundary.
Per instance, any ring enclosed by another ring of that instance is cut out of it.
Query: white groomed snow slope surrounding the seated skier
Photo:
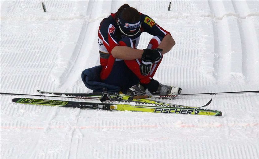
[[[155,79],[183,94],[259,90],[258,0],[0,1],[1,92],[90,93],[81,72],[100,65],[97,30],[124,3],[176,41]],[[152,36],[143,33],[138,48]],[[110,112],[12,103],[1,95],[0,158],[258,158],[258,94],[163,100],[222,117]],[[24,96],[23,96],[24,97]],[[39,97],[43,98],[43,97]],[[51,98],[58,99],[58,98]],[[71,100],[65,98],[64,100]]]

